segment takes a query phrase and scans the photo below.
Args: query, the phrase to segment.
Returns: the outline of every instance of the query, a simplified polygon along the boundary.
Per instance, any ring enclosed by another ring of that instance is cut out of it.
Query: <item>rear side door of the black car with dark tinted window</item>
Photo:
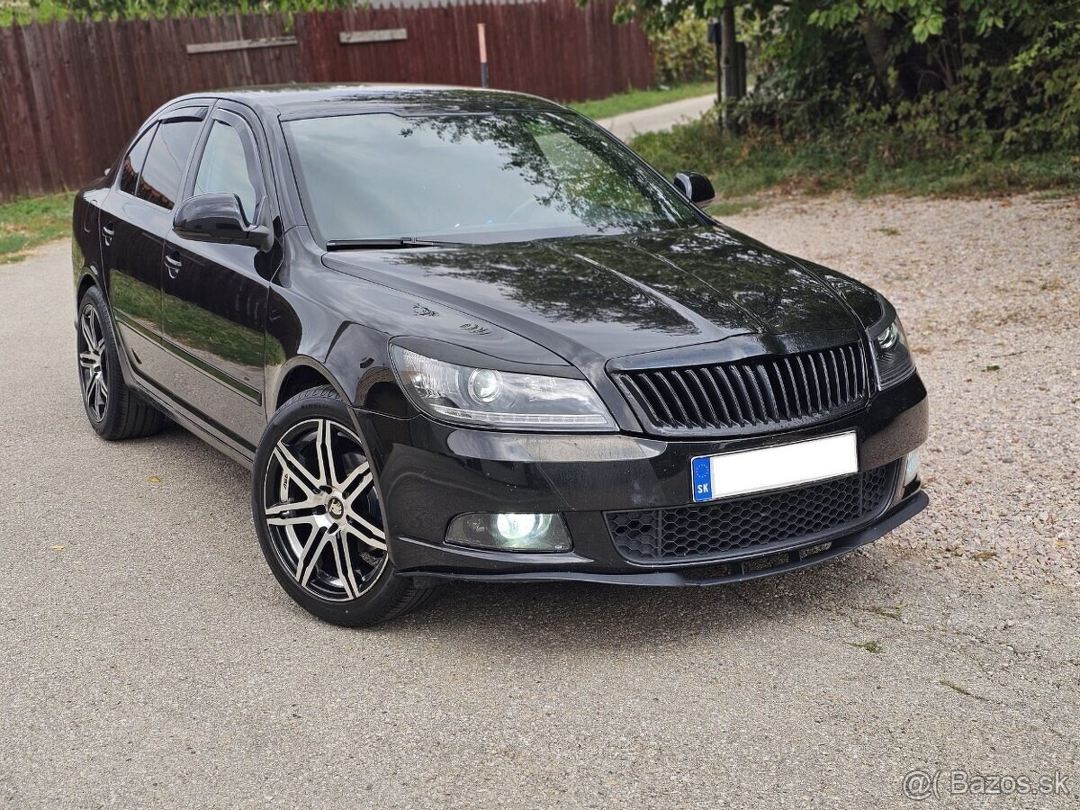
[[[207,107],[183,107],[146,126],[102,202],[102,264],[120,341],[132,368],[154,382],[162,374],[164,239],[206,112]]]

